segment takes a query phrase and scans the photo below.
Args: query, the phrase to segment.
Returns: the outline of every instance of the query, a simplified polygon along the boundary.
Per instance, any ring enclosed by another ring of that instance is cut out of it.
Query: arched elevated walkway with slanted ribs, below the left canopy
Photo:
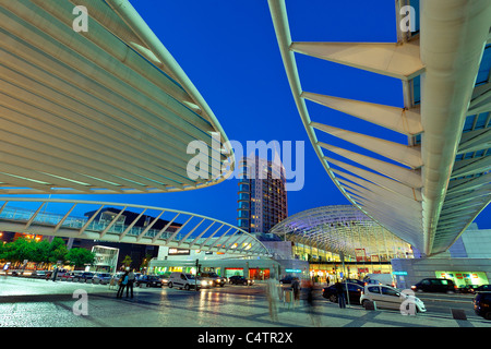
[[[134,204],[27,197],[0,197],[0,230],[4,231],[249,256],[271,255],[262,242],[247,231],[218,219],[183,210]],[[48,209],[61,214],[53,214]],[[75,216],[75,212],[88,215]],[[133,214],[131,221],[124,216],[129,212]],[[103,216],[104,213],[107,214]],[[145,225],[137,226],[142,217],[147,218]],[[160,226],[163,222],[165,225],[155,229],[158,222]]]

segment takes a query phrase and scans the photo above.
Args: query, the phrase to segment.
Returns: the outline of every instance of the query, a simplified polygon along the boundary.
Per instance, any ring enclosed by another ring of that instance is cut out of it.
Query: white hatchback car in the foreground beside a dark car
[[[416,315],[427,311],[424,303],[415,297],[411,290],[399,291],[385,285],[366,285],[360,303],[364,309],[374,304],[381,309],[399,310],[403,315]]]

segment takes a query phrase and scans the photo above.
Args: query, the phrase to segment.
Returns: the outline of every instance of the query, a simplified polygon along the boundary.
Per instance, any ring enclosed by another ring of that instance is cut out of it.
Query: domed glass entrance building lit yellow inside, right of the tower
[[[411,245],[351,205],[324,206],[288,217],[272,233],[292,242],[292,257],[311,276],[359,278],[392,273],[393,258],[412,258]]]

